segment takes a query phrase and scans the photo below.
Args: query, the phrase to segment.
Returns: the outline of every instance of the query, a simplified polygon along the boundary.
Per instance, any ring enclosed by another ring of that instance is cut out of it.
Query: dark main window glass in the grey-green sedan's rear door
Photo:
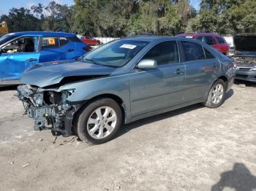
[[[186,61],[197,61],[205,59],[203,47],[195,42],[182,41],[181,42]]]

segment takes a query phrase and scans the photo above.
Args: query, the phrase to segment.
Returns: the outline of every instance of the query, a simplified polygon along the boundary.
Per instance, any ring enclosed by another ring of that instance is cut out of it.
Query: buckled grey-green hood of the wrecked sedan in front
[[[115,69],[113,67],[75,60],[39,63],[22,74],[21,82],[23,84],[45,87],[58,84],[64,77],[107,76]]]

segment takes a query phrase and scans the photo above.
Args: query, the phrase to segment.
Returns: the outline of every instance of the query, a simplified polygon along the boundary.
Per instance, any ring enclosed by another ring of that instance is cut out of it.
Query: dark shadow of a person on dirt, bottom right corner
[[[222,191],[230,187],[236,191],[252,191],[256,189],[256,176],[252,175],[246,165],[235,163],[232,171],[225,171],[211,191]]]

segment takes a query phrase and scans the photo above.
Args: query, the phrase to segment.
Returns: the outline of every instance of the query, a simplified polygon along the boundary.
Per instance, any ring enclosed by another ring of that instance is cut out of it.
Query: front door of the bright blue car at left
[[[39,36],[19,36],[2,47],[0,74],[2,83],[17,84],[26,69],[39,62]]]

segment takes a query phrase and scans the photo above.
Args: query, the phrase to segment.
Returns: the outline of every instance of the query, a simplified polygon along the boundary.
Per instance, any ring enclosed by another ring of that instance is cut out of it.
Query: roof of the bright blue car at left
[[[74,37],[75,34],[64,33],[64,32],[51,32],[51,31],[23,31],[16,32],[10,35],[21,36],[21,35],[42,35],[42,36],[64,36],[64,37]]]

